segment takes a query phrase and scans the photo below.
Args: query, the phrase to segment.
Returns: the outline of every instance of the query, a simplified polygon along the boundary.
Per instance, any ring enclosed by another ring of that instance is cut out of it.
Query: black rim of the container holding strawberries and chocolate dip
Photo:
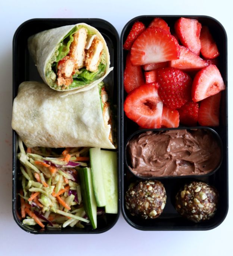
[[[120,82],[121,82],[121,85],[120,85],[120,94],[121,94],[121,98],[124,99],[124,83],[123,83],[123,73],[124,73],[124,58],[123,58],[123,51],[125,51],[123,49],[123,37],[124,37],[124,33],[125,33],[125,30],[128,28],[128,26],[130,24],[132,24],[132,22],[135,22],[137,21],[138,19],[141,19],[141,18],[181,18],[181,17],[184,17],[184,18],[206,18],[206,19],[210,19],[214,22],[216,22],[220,27],[221,27],[221,30],[223,31],[224,33],[224,37],[226,38],[226,42],[225,42],[225,48],[226,48],[226,77],[225,77],[225,85],[226,85],[226,95],[228,95],[228,86],[227,86],[227,33],[226,33],[226,30],[225,28],[223,27],[223,25],[221,24],[220,21],[218,21],[217,19],[215,19],[214,17],[212,16],[208,16],[208,15],[139,15],[139,16],[135,16],[134,18],[130,19],[130,21],[128,21],[125,26],[123,27],[122,31],[121,31],[121,36],[120,36],[120,55],[121,55],[121,64],[120,64]],[[122,144],[124,144],[124,110],[123,110],[123,100],[121,101],[121,141],[122,141]],[[226,107],[226,147],[227,147],[227,150],[228,150],[228,98],[226,97],[225,99],[225,107]],[[198,228],[189,228],[189,227],[186,227],[186,228],[178,228],[178,229],[173,229],[172,227],[163,227],[163,228],[159,228],[159,227],[156,227],[155,228],[151,228],[151,229],[148,229],[148,228],[143,228],[142,226],[139,226],[139,225],[136,225],[135,223],[131,222],[130,219],[128,219],[126,213],[125,213],[125,208],[124,208],[124,156],[123,156],[123,153],[124,153],[124,149],[121,150],[121,212],[122,212],[122,215],[125,219],[125,221],[130,225],[132,226],[133,228],[136,228],[136,229],[139,229],[139,230],[142,230],[142,231],[208,231],[208,230],[211,230],[211,229],[214,229],[214,228],[217,228],[225,219],[226,219],[226,216],[227,216],[227,213],[228,213],[228,210],[229,210],[229,174],[228,174],[228,170],[229,170],[229,156],[228,154],[226,155],[226,179],[227,179],[227,182],[226,182],[226,199],[227,199],[227,205],[226,205],[226,211],[223,215],[223,218],[218,222],[218,223],[214,223],[213,225],[210,225],[210,226],[207,226],[205,228],[203,227],[198,227]],[[137,176],[136,176],[137,177]]]

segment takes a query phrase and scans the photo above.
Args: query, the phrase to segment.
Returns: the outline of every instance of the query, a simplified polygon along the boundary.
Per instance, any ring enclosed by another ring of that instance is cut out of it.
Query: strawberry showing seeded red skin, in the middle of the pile
[[[183,71],[167,67],[157,70],[159,97],[167,107],[179,109],[191,98],[192,79]]]

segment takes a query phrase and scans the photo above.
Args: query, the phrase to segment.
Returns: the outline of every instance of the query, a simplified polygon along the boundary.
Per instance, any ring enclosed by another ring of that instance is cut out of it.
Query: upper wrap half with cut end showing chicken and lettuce
[[[37,33],[28,49],[41,78],[56,91],[86,91],[112,70],[105,39],[86,23]]]

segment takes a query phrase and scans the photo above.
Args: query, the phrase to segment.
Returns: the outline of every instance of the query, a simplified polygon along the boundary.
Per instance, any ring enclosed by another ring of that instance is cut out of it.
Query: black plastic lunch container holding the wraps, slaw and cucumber
[[[13,37],[13,99],[18,92],[18,86],[24,81],[40,81],[42,79],[33,63],[27,48],[28,37],[43,30],[61,27],[65,25],[84,22],[91,25],[105,38],[108,45],[111,66],[114,70],[105,77],[104,81],[109,85],[109,97],[114,105],[117,105],[117,154],[118,154],[118,214],[104,214],[98,217],[97,229],[92,229],[91,225],[81,228],[63,228],[60,230],[40,230],[34,226],[23,225],[19,218],[20,199],[18,196],[21,182],[19,181],[19,161],[17,160],[17,134],[13,131],[13,188],[12,188],[12,212],[16,223],[25,231],[33,234],[98,234],[108,231],[118,220],[120,211],[120,90],[119,90],[119,35],[117,30],[108,21],[103,19],[30,19],[19,26]]]

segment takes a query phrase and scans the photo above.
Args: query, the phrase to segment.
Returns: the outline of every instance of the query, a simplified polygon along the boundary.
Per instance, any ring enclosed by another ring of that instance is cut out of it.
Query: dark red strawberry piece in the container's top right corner
[[[218,57],[219,51],[217,45],[209,32],[209,28],[204,26],[201,29],[201,54],[204,58],[214,59]]]

